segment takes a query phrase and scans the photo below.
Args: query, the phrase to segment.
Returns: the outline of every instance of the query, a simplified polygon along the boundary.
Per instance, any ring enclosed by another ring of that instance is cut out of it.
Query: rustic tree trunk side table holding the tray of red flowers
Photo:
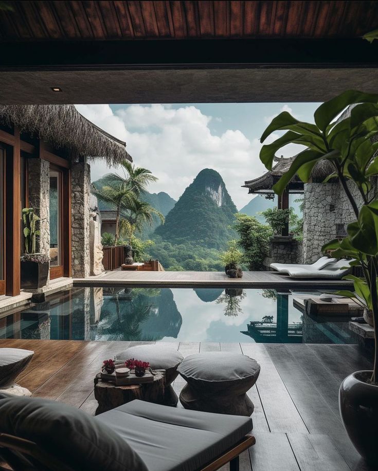
[[[95,398],[98,402],[96,415],[122,406],[134,399],[149,403],[163,404],[165,388],[165,370],[154,370],[153,382],[140,385],[116,386],[114,382],[101,379],[101,373],[95,377]]]

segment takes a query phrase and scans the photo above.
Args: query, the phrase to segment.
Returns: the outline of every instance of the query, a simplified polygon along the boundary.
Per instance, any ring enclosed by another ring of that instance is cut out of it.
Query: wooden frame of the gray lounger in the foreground
[[[239,471],[240,453],[255,443],[253,435],[246,435],[238,444],[198,471],[215,471],[226,463],[230,463],[230,471]],[[0,456],[13,471],[75,471],[34,442],[6,433],[0,433]],[[4,467],[0,467],[0,470],[8,471]]]

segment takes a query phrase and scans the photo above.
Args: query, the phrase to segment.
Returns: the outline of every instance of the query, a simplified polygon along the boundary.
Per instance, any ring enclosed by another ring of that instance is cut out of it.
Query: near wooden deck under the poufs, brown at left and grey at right
[[[35,351],[17,379],[34,397],[45,397],[94,414],[93,378],[104,358],[131,343],[75,340],[0,340],[0,347]],[[160,342],[164,343],[164,342]],[[370,471],[359,462],[338,413],[341,380],[369,369],[357,345],[167,342],[183,355],[206,351],[244,353],[261,365],[248,393],[256,445],[241,456],[241,471]],[[185,381],[174,382],[177,393]],[[226,471],[228,467],[223,467]]]

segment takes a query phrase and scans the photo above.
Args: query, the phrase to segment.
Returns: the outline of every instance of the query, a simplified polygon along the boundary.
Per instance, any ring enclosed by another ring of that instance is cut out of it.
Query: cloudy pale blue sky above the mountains
[[[134,163],[150,169],[158,181],[151,193],[166,191],[174,199],[203,168],[217,170],[238,210],[251,197],[241,188],[244,180],[259,177],[259,138],[281,111],[313,121],[319,103],[184,103],[184,104],[78,104],[89,120],[127,143]],[[280,134],[272,135],[266,143]],[[285,157],[300,150],[286,146]],[[91,165],[92,180],[111,171],[104,162]],[[112,171],[116,169],[112,169]]]

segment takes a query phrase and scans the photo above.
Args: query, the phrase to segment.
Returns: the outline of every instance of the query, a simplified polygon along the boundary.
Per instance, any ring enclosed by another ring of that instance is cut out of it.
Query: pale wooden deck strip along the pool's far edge
[[[99,276],[75,278],[74,285],[153,285],[153,286],[216,286],[241,288],[305,288],[338,289],[351,286],[348,280],[295,280],[273,271],[245,271],[243,278],[229,278],[221,271],[121,271]]]

